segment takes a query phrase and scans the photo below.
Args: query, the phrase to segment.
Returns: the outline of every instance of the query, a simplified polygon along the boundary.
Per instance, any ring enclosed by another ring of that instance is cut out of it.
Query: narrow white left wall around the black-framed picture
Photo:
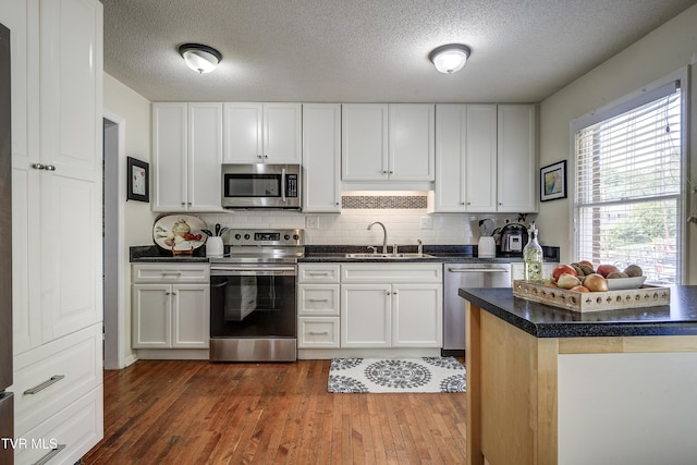
[[[103,106],[105,112],[119,117],[125,125],[123,159],[120,160],[122,172],[125,174],[125,157],[137,158],[150,163],[150,102],[145,97],[131,90],[109,74],[103,75]],[[125,179],[122,180],[124,183]],[[125,192],[125,188],[123,189]],[[135,352],[131,348],[131,264],[129,248],[134,245],[152,243],[152,223],[155,215],[150,211],[150,204],[123,199],[124,241],[122,269],[124,276],[121,302],[123,303],[123,329],[121,347],[122,358],[129,365],[135,360]]]

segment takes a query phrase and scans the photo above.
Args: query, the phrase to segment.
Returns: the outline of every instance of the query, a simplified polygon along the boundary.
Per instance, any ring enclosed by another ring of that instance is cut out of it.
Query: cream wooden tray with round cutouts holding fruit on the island
[[[576,292],[527,281],[513,281],[513,295],[572,311],[602,311],[670,305],[671,290],[645,284],[639,289]]]

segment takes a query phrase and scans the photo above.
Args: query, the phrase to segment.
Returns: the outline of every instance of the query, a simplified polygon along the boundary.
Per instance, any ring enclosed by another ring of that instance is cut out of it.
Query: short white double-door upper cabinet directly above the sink
[[[433,135],[432,105],[345,103],[342,180],[433,181]]]

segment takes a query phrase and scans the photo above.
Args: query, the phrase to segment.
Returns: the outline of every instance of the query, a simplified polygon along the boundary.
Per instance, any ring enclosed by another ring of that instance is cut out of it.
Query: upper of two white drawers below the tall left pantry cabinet
[[[23,436],[101,384],[101,325],[15,357],[15,435]]]

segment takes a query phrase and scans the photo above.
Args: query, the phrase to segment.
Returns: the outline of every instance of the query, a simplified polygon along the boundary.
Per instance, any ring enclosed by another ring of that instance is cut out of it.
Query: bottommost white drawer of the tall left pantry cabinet
[[[15,449],[14,463],[33,464],[42,458],[47,465],[77,463],[103,438],[102,411],[99,386],[25,435],[15,435],[26,439],[26,446]]]

